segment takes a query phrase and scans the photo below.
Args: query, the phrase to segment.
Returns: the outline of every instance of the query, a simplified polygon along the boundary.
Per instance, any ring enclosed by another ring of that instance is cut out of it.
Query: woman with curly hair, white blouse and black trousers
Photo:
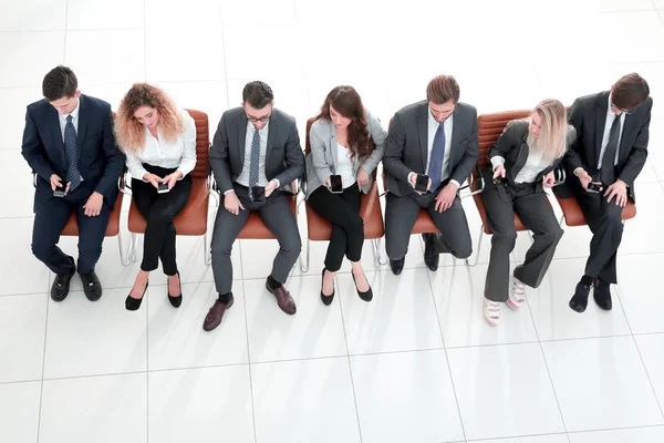
[[[115,136],[127,156],[132,197],[147,223],[141,270],[125,307],[129,311],[141,307],[149,272],[160,259],[168,276],[168,300],[178,308],[183,295],[173,218],[191,194],[189,173],[196,166],[194,119],[178,110],[160,89],[137,83],[120,104]]]

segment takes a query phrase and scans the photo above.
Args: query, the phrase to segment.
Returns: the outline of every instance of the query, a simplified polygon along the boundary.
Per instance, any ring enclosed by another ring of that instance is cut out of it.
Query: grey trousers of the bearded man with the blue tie
[[[468,220],[459,197],[452,206],[438,213],[435,208],[436,193],[419,195],[412,193],[405,197],[387,193],[385,207],[385,249],[391,260],[401,260],[408,251],[408,241],[421,208],[426,208],[434,225],[440,231],[444,251],[457,258],[467,258],[473,254],[473,241],[468,230]]]

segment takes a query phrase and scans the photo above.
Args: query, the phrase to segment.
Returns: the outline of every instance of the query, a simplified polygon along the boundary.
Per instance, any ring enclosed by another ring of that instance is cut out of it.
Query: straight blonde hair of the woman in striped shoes
[[[567,150],[567,110],[554,99],[542,100],[535,106],[532,114],[538,114],[542,120],[542,130],[539,137],[528,131],[528,146],[533,152],[541,152],[542,157],[550,164],[564,155]],[[532,116],[528,119],[528,124]]]

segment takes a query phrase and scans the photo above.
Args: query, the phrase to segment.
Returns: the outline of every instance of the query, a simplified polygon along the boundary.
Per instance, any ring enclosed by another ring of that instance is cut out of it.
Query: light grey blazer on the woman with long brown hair
[[[364,194],[369,193],[373,183],[373,171],[381,163],[385,151],[385,130],[369,111],[366,111],[366,125],[369,135],[376,145],[364,162],[355,157],[353,162],[353,174],[362,167],[369,174],[369,184],[362,187]],[[336,171],[336,128],[329,120],[319,119],[311,125],[309,131],[311,153],[307,156],[307,198],[319,187],[323,186],[328,177]]]

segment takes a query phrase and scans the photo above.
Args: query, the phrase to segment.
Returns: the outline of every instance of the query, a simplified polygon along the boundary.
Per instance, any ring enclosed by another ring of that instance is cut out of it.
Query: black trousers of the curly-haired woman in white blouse
[[[166,169],[148,164],[143,167],[159,177],[173,174],[176,169]],[[175,186],[166,194],[158,194],[152,183],[142,179],[132,179],[132,197],[136,207],[147,225],[143,241],[143,262],[141,269],[152,271],[157,269],[159,259],[164,274],[174,276],[177,274],[175,262],[175,226],[173,219],[185,207],[191,194],[191,176],[186,175],[175,183]]]

